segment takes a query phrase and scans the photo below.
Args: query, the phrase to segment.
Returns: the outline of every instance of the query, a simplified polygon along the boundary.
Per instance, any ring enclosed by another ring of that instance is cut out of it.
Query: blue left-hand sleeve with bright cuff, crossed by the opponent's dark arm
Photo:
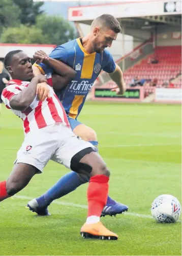
[[[64,63],[67,62],[68,53],[67,50],[63,46],[57,46],[53,51],[49,54],[49,57],[52,59],[56,59],[58,61],[62,61]],[[53,72],[53,69],[44,63],[34,63],[34,66],[38,67],[43,75]]]

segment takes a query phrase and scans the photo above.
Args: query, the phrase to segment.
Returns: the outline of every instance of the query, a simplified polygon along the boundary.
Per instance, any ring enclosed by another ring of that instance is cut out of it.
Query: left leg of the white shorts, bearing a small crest
[[[17,153],[16,163],[33,165],[41,173],[57,148],[58,140],[54,133],[50,133],[46,129],[29,132]]]

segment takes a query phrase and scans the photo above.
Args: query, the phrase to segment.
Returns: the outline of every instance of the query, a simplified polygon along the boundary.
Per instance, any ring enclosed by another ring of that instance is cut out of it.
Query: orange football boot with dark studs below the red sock
[[[97,238],[106,240],[117,240],[118,236],[106,229],[106,227],[101,223],[86,224],[81,228],[80,234],[83,238]]]

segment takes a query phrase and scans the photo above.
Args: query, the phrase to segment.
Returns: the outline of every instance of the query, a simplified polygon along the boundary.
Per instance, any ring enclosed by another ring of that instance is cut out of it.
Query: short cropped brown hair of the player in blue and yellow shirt
[[[103,14],[92,22],[92,25],[97,25],[100,23],[103,27],[108,27],[110,30],[114,31],[115,33],[119,33],[122,31],[122,28],[119,24],[119,21],[110,14]]]

